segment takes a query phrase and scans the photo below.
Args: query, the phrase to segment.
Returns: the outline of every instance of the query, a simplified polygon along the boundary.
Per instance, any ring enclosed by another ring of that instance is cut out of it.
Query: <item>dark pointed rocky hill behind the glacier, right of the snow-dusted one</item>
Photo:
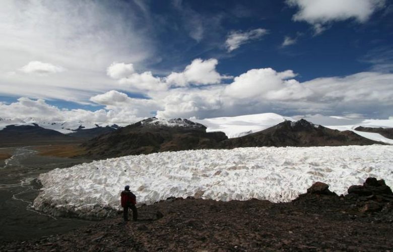
[[[351,131],[337,131],[315,125],[304,119],[284,121],[264,131],[220,143],[221,148],[260,146],[341,146],[371,145],[378,142],[365,139]]]

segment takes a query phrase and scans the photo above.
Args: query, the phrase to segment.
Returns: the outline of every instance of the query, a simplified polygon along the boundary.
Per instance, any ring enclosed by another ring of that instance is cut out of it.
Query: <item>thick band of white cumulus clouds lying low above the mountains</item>
[[[173,79],[173,73],[169,78],[154,76],[152,72],[138,74],[131,71],[127,74],[132,74],[118,80],[122,82],[125,79],[124,85],[138,89],[148,98],[133,98],[124,92],[109,90],[90,97],[90,102],[104,106],[96,111],[62,110],[42,99],[20,98],[11,104],[0,104],[0,117],[23,119],[36,116],[46,120],[131,123],[154,115],[206,118],[260,112],[369,118],[391,116],[393,74],[362,72],[301,83],[296,80],[297,75],[292,70],[279,72],[272,68],[261,68],[248,70],[225,84],[222,75],[216,70],[217,62],[216,59],[195,59],[183,72],[176,73],[179,79]],[[127,69],[127,65],[118,66]],[[205,72],[213,74],[199,75]],[[135,80],[135,83],[131,83],[130,80],[135,78],[140,78],[141,82]],[[151,81],[150,85],[145,85],[148,81]],[[144,84],[138,86],[138,83]]]

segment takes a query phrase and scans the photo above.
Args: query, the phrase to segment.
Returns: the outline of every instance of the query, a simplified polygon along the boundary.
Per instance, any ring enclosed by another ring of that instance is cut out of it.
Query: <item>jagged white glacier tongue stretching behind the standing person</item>
[[[192,196],[288,202],[316,181],[346,194],[369,176],[393,185],[393,146],[260,147],[126,156],[41,174],[36,210],[105,215],[120,209],[124,185],[138,204]]]

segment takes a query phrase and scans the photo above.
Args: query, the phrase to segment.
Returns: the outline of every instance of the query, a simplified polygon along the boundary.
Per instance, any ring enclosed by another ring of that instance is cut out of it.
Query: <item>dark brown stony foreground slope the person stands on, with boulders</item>
[[[393,194],[383,180],[337,196],[316,182],[289,203],[171,198],[120,217],[37,240],[3,242],[1,251],[389,251]]]

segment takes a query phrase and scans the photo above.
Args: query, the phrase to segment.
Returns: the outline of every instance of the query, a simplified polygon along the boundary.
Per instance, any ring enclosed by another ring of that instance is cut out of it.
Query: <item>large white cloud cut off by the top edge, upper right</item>
[[[385,0],[287,0],[287,4],[297,7],[294,21],[305,21],[314,26],[315,33],[321,33],[325,25],[347,19],[359,23],[384,6]]]

